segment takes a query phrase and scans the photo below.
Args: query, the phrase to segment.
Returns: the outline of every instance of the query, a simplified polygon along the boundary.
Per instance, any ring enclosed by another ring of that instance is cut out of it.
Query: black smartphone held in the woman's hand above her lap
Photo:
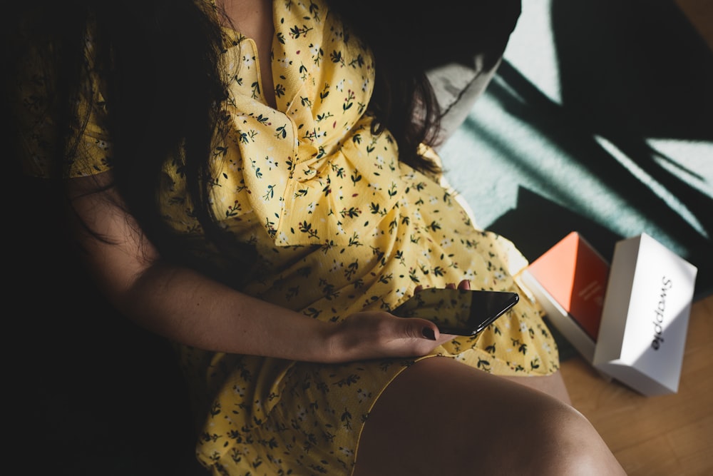
[[[443,334],[477,335],[520,300],[518,293],[470,289],[427,288],[399,305],[392,313],[401,318],[422,318]]]

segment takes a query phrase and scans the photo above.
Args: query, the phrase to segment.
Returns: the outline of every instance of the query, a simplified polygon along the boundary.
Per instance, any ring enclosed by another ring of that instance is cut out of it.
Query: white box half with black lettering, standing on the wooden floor
[[[677,393],[697,272],[645,233],[617,242],[595,368],[643,395]]]

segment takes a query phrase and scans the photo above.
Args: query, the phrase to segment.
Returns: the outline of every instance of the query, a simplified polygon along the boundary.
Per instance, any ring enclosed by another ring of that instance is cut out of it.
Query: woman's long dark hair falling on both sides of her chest
[[[425,75],[434,56],[422,48],[423,42],[404,41],[394,25],[384,28],[374,21],[365,13],[369,1],[333,3],[375,52],[377,82],[369,107],[376,113],[377,132],[389,129],[399,144],[399,160],[422,171],[437,171],[418,151],[420,143],[433,142],[438,133],[438,104]],[[77,116],[74,104],[80,94],[93,97],[93,84],[83,70],[85,35],[93,25],[96,28],[89,31],[95,34],[96,67],[108,84],[113,185],[128,211],[164,256],[180,256],[180,238],[165,226],[156,197],[163,163],[173,157],[187,179],[193,213],[207,237],[219,247],[224,245],[230,238],[220,231],[207,199],[216,105],[225,98],[219,66],[220,11],[207,1],[195,0],[38,0],[14,8],[16,16],[9,15],[16,18],[16,30],[9,29],[14,38],[4,41],[4,46],[11,45],[4,55],[9,71],[28,46],[19,39],[51,51],[46,66],[53,71],[48,76],[54,81],[53,100],[47,108],[58,130],[52,148],[56,167],[61,168],[67,156],[81,156],[77,138],[86,117]],[[504,37],[495,39],[494,48],[488,46],[493,56],[502,52],[512,26],[514,21],[503,29]],[[473,51],[486,48],[478,41]],[[451,59],[443,55],[441,61]]]

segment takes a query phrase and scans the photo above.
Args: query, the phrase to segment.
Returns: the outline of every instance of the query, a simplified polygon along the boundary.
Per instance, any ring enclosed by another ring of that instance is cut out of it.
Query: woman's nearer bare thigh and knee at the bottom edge
[[[577,410],[449,358],[421,360],[376,401],[354,476],[623,475]]]

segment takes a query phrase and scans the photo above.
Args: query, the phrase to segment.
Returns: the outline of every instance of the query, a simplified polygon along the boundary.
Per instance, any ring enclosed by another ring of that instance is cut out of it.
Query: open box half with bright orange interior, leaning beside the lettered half
[[[592,362],[602,319],[610,266],[573,231],[530,263],[523,284],[550,322]]]

